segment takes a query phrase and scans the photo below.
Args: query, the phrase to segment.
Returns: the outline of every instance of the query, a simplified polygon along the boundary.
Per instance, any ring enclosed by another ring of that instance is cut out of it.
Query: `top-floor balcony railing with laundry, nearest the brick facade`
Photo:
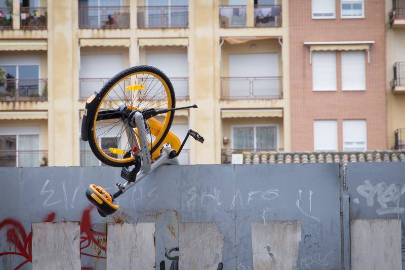
[[[256,27],[281,27],[281,5],[255,5]]]

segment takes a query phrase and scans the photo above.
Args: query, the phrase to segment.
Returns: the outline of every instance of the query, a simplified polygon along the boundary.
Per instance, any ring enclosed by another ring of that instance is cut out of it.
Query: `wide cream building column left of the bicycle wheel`
[[[48,86],[50,166],[72,166],[73,121],[73,3],[48,0]],[[76,69],[74,69],[76,70]]]

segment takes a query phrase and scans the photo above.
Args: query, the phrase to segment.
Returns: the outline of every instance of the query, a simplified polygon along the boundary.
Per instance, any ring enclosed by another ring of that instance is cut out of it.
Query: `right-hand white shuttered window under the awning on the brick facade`
[[[363,51],[342,52],[342,90],[366,90],[366,56]]]

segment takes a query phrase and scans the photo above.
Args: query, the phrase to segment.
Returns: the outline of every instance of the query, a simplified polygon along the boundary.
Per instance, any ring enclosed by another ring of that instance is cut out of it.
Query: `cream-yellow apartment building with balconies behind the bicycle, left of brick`
[[[118,71],[154,65],[189,128],[182,163],[289,149],[288,1],[0,1],[1,166],[101,165],[80,140],[85,99]],[[287,116],[286,116],[287,115]]]

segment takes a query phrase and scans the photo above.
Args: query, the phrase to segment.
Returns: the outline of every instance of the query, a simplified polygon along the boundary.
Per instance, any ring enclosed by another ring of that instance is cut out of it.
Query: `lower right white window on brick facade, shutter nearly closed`
[[[343,150],[367,150],[367,125],[366,120],[343,121]]]

